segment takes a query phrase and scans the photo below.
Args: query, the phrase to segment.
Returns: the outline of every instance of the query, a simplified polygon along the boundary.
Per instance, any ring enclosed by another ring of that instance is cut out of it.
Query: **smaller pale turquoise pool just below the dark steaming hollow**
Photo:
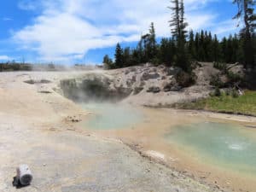
[[[143,120],[143,114],[136,108],[118,103],[90,102],[80,104],[93,113],[86,121],[86,127],[95,130],[117,130],[131,128]]]

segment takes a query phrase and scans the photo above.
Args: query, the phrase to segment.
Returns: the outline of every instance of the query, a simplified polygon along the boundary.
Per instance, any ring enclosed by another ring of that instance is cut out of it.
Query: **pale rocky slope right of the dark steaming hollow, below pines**
[[[218,73],[218,70],[214,69],[211,64],[197,67],[195,69],[196,82],[187,88],[177,82],[179,72],[179,68],[160,66],[131,67],[121,71],[121,74],[119,70],[111,74],[118,77],[115,84],[121,84],[133,90],[125,102],[148,107],[168,107],[176,102],[195,101],[207,97],[212,90],[209,84],[211,76]]]

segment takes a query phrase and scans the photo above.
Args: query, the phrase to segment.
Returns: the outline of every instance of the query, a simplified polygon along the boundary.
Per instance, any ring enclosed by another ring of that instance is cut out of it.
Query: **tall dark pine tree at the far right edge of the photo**
[[[233,19],[243,19],[244,27],[241,30],[241,39],[243,43],[244,51],[244,65],[245,67],[255,67],[255,52],[253,46],[255,27],[256,27],[256,15],[253,13],[255,6],[254,0],[233,0],[238,6],[238,12]]]

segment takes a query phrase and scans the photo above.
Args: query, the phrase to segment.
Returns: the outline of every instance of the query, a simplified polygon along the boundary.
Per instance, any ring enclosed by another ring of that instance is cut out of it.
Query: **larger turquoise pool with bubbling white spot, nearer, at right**
[[[198,160],[254,175],[256,137],[252,134],[256,131],[247,132],[239,125],[205,122],[172,128],[166,140]]]

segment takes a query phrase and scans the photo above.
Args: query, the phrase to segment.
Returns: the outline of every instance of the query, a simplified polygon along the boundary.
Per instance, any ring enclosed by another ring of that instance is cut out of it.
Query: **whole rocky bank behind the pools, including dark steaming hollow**
[[[196,81],[189,87],[177,82],[179,68],[144,65],[90,73],[61,81],[62,93],[72,99],[122,100],[148,107],[167,107],[177,102],[209,96],[212,76],[220,73],[212,63],[195,68]]]

